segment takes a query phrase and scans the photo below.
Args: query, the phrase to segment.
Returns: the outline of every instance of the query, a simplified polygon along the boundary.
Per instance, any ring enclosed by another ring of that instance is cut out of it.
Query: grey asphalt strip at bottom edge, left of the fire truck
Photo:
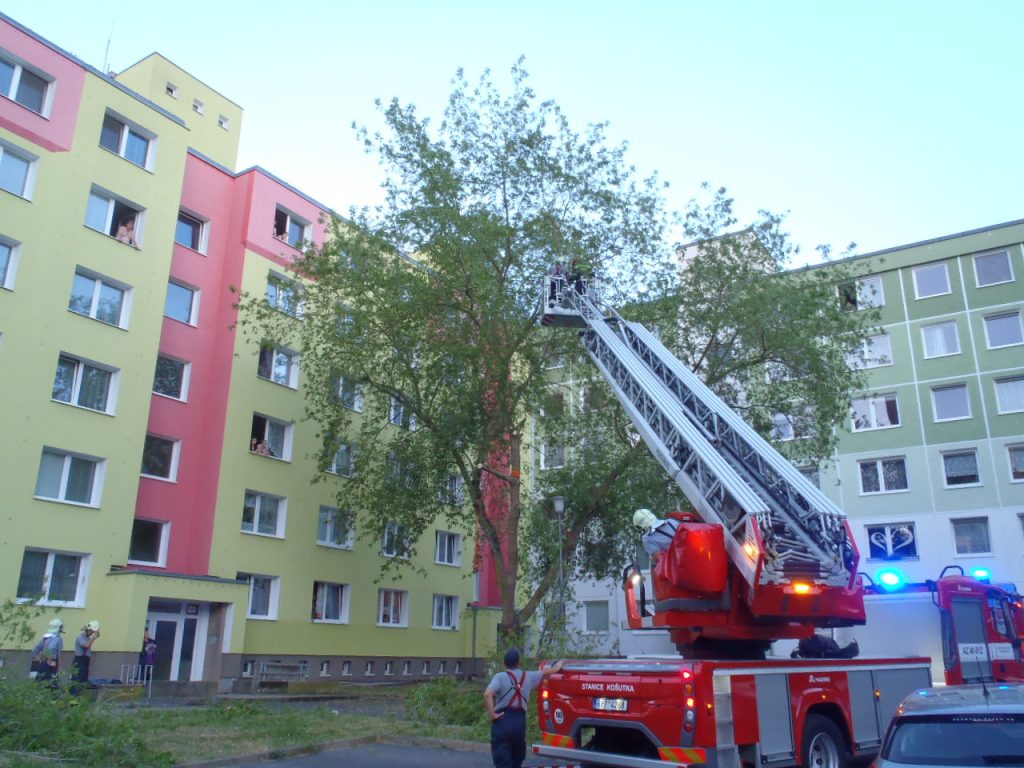
[[[527,750],[529,748],[527,746]],[[400,744],[364,744],[330,750],[316,755],[303,755],[260,763],[240,763],[237,768],[492,768],[489,752],[462,752],[427,746]],[[527,757],[524,768],[551,766]],[[556,764],[565,766],[564,763]]]

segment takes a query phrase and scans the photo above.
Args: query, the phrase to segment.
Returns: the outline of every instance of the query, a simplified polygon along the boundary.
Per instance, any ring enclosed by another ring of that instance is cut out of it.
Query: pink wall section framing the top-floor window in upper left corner
[[[78,123],[85,70],[3,19],[0,19],[0,48],[54,81],[50,85],[52,106],[47,117],[0,96],[0,126],[50,152],[68,152]]]

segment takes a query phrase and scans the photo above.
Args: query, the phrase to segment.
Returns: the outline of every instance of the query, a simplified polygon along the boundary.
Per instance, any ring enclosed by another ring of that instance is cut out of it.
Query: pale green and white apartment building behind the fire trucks
[[[854,257],[837,288],[850,311],[877,308],[867,387],[837,425],[834,461],[812,472],[850,519],[869,582],[868,624],[841,633],[868,653],[938,653],[937,611],[903,583],[978,569],[1024,588],[1024,221]],[[794,439],[779,422],[775,438]],[[543,468],[542,468],[543,471]],[[602,652],[672,652],[630,632],[617,585],[575,584],[574,624]],[[934,642],[921,644],[915,623]]]

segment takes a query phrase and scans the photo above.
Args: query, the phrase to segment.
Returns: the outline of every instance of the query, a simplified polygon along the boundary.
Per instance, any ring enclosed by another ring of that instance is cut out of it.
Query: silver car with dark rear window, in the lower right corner
[[[923,688],[896,709],[872,768],[1024,766],[1024,684]]]

